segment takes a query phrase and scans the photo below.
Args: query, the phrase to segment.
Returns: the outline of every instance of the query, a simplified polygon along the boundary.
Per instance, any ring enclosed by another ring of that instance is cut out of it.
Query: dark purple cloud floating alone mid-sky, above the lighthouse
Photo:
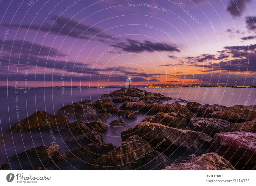
[[[180,50],[176,46],[172,46],[166,43],[152,43],[150,41],[139,42],[131,39],[127,39],[127,43],[122,42],[117,44],[119,48],[127,52],[154,52],[154,51],[177,51]]]

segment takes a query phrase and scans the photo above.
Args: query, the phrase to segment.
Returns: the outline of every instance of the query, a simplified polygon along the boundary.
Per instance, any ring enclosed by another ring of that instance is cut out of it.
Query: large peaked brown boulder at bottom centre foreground
[[[120,146],[82,166],[82,170],[162,169],[170,160],[139,136],[130,136]]]

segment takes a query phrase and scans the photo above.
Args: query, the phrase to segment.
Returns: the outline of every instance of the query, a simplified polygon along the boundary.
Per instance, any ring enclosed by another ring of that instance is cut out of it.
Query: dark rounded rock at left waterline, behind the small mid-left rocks
[[[65,115],[67,118],[76,118],[76,119],[96,119],[96,111],[92,108],[91,105],[86,105],[80,103],[73,103],[72,105],[66,105],[62,107],[57,112],[58,114]]]

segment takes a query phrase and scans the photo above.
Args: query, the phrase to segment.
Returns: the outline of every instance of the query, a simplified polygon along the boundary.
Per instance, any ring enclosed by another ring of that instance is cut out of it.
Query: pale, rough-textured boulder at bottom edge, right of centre
[[[217,153],[207,153],[186,163],[172,164],[163,170],[236,170],[229,161]]]

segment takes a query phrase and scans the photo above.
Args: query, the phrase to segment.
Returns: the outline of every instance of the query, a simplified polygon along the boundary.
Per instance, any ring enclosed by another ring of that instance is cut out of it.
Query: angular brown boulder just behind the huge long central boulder
[[[159,112],[155,116],[148,116],[143,121],[150,123],[160,123],[169,127],[186,127],[187,120],[185,114],[177,114],[175,112],[163,113]]]

